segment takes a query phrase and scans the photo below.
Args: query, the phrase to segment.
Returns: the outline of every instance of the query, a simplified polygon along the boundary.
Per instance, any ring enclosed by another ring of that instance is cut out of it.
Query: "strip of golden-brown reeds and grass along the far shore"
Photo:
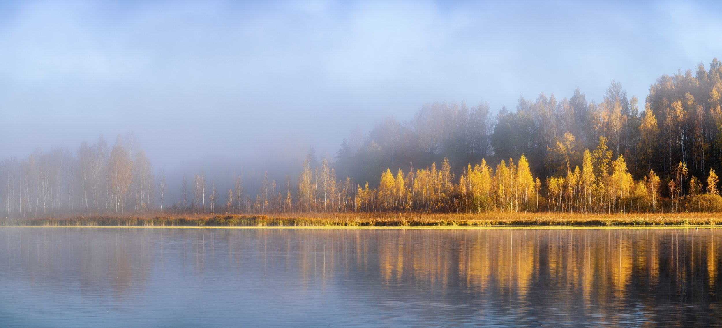
[[[4,226],[722,226],[718,213],[282,213],[17,218]]]

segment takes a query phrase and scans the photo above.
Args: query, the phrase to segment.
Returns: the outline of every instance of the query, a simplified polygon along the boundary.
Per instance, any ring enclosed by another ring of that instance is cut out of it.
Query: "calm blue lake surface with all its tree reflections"
[[[0,327],[722,327],[722,230],[0,228]]]

